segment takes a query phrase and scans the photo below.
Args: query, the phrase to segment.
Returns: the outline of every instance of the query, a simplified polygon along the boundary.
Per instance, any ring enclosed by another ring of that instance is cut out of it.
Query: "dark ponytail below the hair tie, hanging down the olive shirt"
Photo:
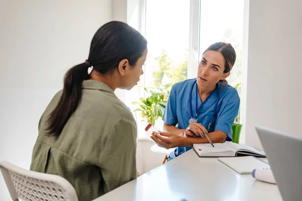
[[[86,60],[70,68],[64,77],[64,87],[61,98],[48,117],[47,134],[58,137],[72,113],[77,109],[82,97],[82,82],[90,78],[88,68],[90,63]]]

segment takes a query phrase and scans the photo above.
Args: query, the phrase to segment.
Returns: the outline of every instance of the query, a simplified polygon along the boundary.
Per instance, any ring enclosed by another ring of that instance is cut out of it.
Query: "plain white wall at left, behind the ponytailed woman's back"
[[[111,20],[110,0],[1,1],[0,161],[29,168],[41,114]],[[2,176],[0,200],[11,200]]]

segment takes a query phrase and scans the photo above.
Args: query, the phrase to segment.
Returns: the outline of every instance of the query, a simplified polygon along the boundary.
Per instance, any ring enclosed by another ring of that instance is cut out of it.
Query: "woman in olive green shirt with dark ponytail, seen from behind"
[[[122,22],[96,32],[88,59],[67,71],[40,119],[31,170],[64,177],[80,201],[136,178],[136,124],[114,90],[137,84],[146,44]]]

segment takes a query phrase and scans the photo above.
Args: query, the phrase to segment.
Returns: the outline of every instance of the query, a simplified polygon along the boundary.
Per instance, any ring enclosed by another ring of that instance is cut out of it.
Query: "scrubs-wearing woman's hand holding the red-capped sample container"
[[[166,149],[186,146],[184,144],[185,137],[175,133],[161,132],[159,134],[151,136],[151,138],[158,144],[159,147]]]

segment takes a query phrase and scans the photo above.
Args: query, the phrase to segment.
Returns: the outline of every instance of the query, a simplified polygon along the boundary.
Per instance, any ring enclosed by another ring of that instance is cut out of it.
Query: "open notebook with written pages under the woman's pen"
[[[210,144],[193,144],[193,149],[199,157],[232,157],[240,155],[253,155],[265,157],[265,154],[253,147],[233,142],[214,143],[215,147]]]

